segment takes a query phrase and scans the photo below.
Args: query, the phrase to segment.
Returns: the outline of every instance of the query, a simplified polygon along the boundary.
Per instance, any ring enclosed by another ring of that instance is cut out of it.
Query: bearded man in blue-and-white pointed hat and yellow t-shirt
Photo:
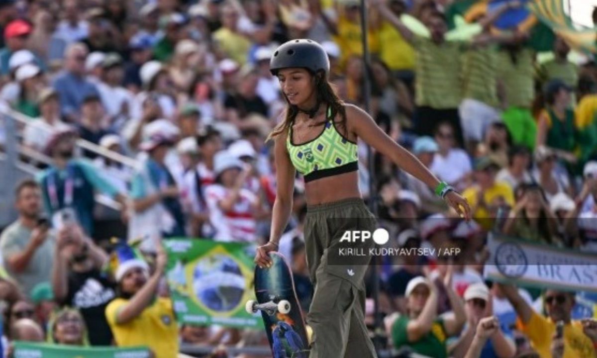
[[[173,303],[159,297],[159,283],[168,257],[161,245],[153,274],[137,249],[116,246],[110,264],[118,285],[118,298],[106,307],[106,319],[118,347],[146,345],[155,358],[174,358],[179,337]]]

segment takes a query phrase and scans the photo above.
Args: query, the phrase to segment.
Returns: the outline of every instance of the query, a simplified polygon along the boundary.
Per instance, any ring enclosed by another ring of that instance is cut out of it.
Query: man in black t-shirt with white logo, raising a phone
[[[76,307],[85,320],[91,345],[112,345],[112,331],[104,311],[116,297],[112,280],[101,269],[106,253],[76,225],[57,234],[52,286],[60,304]]]

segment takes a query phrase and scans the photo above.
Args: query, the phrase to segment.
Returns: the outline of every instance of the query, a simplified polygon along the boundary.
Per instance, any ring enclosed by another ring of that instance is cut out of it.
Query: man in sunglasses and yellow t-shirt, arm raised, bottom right
[[[574,292],[547,289],[543,294],[543,307],[547,317],[531,308],[513,285],[498,284],[504,296],[516,310],[516,326],[531,341],[541,357],[595,357],[597,334],[591,320],[572,320],[571,314],[576,300]],[[556,325],[562,322],[564,329],[558,337]],[[563,341],[563,342],[562,342]],[[563,352],[562,352],[563,350]]]

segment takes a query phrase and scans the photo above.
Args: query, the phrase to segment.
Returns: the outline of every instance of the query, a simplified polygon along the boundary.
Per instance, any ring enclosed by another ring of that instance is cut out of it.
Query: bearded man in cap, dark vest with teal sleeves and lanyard
[[[115,197],[126,212],[125,197],[97,172],[92,163],[74,159],[76,132],[57,131],[48,141],[45,154],[53,159],[50,168],[38,177],[44,206],[53,226],[60,229],[65,221],[76,221],[85,234],[93,236],[94,192]],[[58,226],[58,227],[57,227]]]

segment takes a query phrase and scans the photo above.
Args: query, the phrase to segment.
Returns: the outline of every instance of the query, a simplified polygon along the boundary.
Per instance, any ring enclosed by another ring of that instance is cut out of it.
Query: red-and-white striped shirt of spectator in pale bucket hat
[[[216,229],[216,241],[255,242],[257,221],[253,217],[257,197],[247,189],[241,189],[232,210],[223,211],[221,200],[230,195],[230,189],[213,184],[205,189],[205,200],[210,211],[211,224]]]

